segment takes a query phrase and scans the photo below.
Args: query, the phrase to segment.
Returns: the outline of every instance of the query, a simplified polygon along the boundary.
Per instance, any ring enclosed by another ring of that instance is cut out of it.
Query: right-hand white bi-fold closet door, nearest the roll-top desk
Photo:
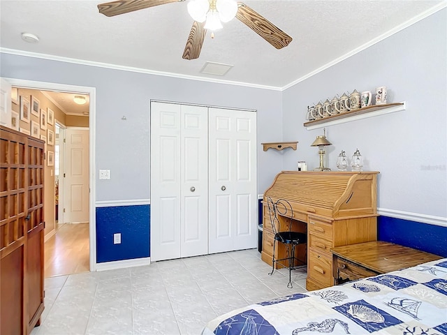
[[[256,112],[210,108],[209,253],[255,248]]]

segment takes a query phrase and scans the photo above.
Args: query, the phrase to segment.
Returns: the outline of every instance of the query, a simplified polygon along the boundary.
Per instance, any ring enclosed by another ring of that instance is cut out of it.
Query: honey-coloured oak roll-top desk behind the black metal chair
[[[376,189],[379,172],[283,171],[263,197],[263,251],[272,265],[273,232],[267,198],[285,199],[293,208],[294,230],[307,230],[307,290],[334,285],[330,248],[377,239]],[[281,222],[279,223],[281,224]],[[296,257],[305,258],[298,248]],[[285,249],[277,248],[275,258]]]

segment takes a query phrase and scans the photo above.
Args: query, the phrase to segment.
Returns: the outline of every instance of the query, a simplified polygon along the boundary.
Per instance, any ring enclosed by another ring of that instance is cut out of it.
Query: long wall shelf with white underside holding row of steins
[[[387,103],[386,105],[372,105],[363,107],[358,110],[350,110],[342,114],[331,115],[324,119],[309,121],[304,124],[308,131],[312,129],[333,126],[335,124],[344,124],[345,122],[366,119],[367,117],[376,117],[378,115],[389,114],[393,112],[400,112],[406,110],[406,102],[402,103]]]

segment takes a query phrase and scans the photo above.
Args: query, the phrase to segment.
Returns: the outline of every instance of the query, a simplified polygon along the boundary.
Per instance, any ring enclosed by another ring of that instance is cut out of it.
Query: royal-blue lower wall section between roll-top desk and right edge
[[[377,239],[447,257],[447,228],[379,216]]]

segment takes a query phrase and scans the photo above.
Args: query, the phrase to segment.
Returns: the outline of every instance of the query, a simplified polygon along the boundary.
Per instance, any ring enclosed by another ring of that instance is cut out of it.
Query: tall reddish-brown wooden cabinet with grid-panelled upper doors
[[[0,132],[1,334],[29,334],[43,312],[44,142]]]

